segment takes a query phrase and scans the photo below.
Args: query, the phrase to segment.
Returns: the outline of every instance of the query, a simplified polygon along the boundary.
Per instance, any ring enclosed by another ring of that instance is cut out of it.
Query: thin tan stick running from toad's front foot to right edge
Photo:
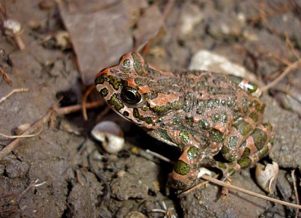
[[[275,202],[275,203],[280,203],[280,204],[283,204],[283,205],[286,205],[286,206],[291,206],[291,207],[295,207],[295,208],[299,208],[299,209],[301,208],[301,205],[294,204],[294,203],[289,203],[289,202],[286,202],[286,201],[283,201],[283,200],[274,199],[272,197],[268,197],[268,196],[265,196],[265,195],[262,195],[262,194],[258,194],[258,193],[255,193],[255,192],[252,192],[252,191],[240,188],[240,187],[236,187],[234,185],[231,185],[231,184],[228,184],[226,182],[222,182],[222,181],[220,181],[218,179],[212,178],[212,177],[210,177],[208,175],[202,175],[201,178],[206,179],[206,180],[208,180],[208,181],[210,181],[212,183],[215,183],[215,184],[227,187],[227,188],[231,188],[233,190],[240,191],[240,192],[243,192],[243,193],[255,196],[255,197],[260,197],[262,199],[269,200],[269,201],[272,201],[272,202]]]

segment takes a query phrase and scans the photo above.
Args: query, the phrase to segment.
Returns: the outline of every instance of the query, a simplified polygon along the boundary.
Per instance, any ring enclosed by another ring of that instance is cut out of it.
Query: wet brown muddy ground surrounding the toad
[[[79,8],[89,8],[88,1],[74,2]],[[94,6],[97,2],[118,6],[123,1],[91,2]],[[196,0],[145,1],[143,4],[145,14],[146,9],[152,7],[157,7],[156,10],[162,14],[168,12],[160,23],[163,34],[158,34],[160,28],[156,37],[153,33],[135,32],[139,29],[137,24],[142,22],[142,19],[136,18],[128,28],[132,31],[129,37],[132,39],[135,36],[135,40],[130,42],[135,44],[123,45],[125,47],[122,49],[135,50],[139,46],[138,39],[143,44],[143,37],[153,34],[147,38],[151,43],[146,44],[147,49],[144,47],[143,56],[161,69],[187,69],[198,51],[208,50],[243,66],[256,77],[258,84],[264,86],[300,57],[300,1]],[[171,7],[167,10],[166,6]],[[108,10],[101,7],[99,10]],[[16,127],[24,123],[34,124],[47,114],[59,96],[64,96],[64,99],[57,107],[80,104],[83,93],[93,80],[93,71],[91,76],[91,69],[85,61],[90,61],[92,57],[95,61],[91,63],[97,62],[99,53],[99,62],[102,63],[108,55],[103,57],[100,54],[102,51],[96,50],[98,47],[92,51],[93,40],[97,43],[101,35],[98,39],[90,39],[91,45],[79,40],[76,34],[81,34],[82,30],[76,28],[88,24],[78,27],[70,25],[75,20],[71,15],[76,16],[76,10],[73,14],[67,14],[59,3],[35,0],[27,0],[26,4],[20,0],[7,0],[6,10],[9,18],[22,25],[20,37],[25,49],[20,51],[13,37],[2,34],[0,67],[12,84],[0,77],[0,99],[13,89],[29,89],[0,101],[0,133],[12,135]],[[110,16],[105,17],[108,20],[103,23],[109,23],[116,14]],[[150,17],[155,20],[148,23],[154,21],[152,24],[160,26],[156,23],[159,22],[156,20],[158,16]],[[2,21],[6,19],[2,16]],[[153,30],[155,27],[146,28]],[[59,43],[61,38],[58,33],[66,33],[66,29],[70,37],[65,41],[63,37],[63,43]],[[105,29],[103,33],[106,33]],[[143,37],[139,38],[141,35]],[[119,40],[122,43],[122,39]],[[88,51],[83,52],[85,49]],[[104,48],[103,51],[112,54],[110,60],[117,63],[122,49]],[[105,67],[106,64],[103,65]],[[301,194],[301,70],[290,71],[262,96],[266,104],[265,120],[273,125],[276,135],[271,152],[261,162],[275,161],[280,167],[275,192],[267,194],[256,184],[254,169],[236,173],[232,184],[297,203],[291,171],[295,170],[296,189]],[[88,101],[102,102],[96,91],[90,94]],[[90,133],[104,110],[106,106],[103,102],[97,109],[88,110],[87,121],[80,110],[68,115],[58,114],[56,122],[51,122],[53,125],[46,122],[40,134],[23,139],[12,152],[0,158],[0,217],[166,215],[153,209],[168,210],[167,217],[172,214],[176,217],[295,216],[292,207],[237,191],[230,190],[227,199],[222,199],[221,188],[214,184],[204,185],[186,195],[168,190],[166,182],[173,166],[145,150],[150,149],[171,160],[176,160],[180,152],[109,111],[101,120],[117,123],[123,129],[126,143],[117,154],[108,154]],[[33,133],[39,130],[37,128]],[[0,136],[0,149],[13,140]]]

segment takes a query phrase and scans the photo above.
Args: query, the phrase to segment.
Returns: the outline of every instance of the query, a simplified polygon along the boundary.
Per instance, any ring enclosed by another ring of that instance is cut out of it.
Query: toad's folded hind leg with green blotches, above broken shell
[[[237,159],[223,171],[221,180],[227,181],[235,172],[254,165],[265,156],[272,147],[272,137],[272,126],[269,123],[258,125],[241,144]]]

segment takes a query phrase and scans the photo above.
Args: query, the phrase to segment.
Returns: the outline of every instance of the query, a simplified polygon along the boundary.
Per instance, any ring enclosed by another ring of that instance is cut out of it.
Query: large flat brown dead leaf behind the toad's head
[[[92,83],[102,68],[133,50],[131,15],[145,7],[146,0],[60,2],[84,83]]]

